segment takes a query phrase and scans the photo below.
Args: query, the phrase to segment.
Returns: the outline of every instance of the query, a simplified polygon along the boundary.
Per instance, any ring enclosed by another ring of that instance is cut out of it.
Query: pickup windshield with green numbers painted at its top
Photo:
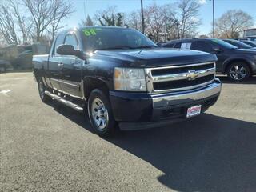
[[[81,33],[85,51],[157,46],[137,30],[114,27],[86,27],[81,30]]]

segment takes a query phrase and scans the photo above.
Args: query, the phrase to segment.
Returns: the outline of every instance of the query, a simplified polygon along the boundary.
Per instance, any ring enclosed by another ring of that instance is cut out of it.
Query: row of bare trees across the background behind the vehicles
[[[144,8],[145,34],[154,42],[194,38],[200,34],[202,18],[198,0],[180,0]],[[65,25],[74,7],[62,0],[3,0],[0,2],[0,38],[7,44],[52,41]],[[142,31],[141,10],[122,13],[116,6],[87,15],[80,26],[124,26]],[[238,38],[254,25],[254,18],[242,10],[228,10],[215,21],[216,38]],[[210,37],[205,34],[203,37]]]

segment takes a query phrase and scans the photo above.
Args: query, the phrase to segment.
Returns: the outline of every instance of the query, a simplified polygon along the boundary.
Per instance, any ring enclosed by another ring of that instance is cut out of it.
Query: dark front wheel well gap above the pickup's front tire
[[[88,101],[88,98],[90,96],[90,92],[94,89],[101,89],[104,92],[108,93],[108,86],[105,82],[98,78],[86,78],[83,82],[84,87],[84,96],[86,98],[86,101]]]

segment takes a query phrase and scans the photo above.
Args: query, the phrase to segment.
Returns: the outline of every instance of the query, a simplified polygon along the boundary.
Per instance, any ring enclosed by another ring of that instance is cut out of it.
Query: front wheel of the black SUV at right
[[[228,66],[226,74],[233,82],[243,82],[250,77],[250,68],[245,62],[233,62]]]

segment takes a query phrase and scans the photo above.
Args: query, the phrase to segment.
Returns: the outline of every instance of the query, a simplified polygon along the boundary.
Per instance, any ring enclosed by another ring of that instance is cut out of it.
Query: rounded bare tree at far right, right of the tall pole
[[[228,10],[215,22],[218,38],[238,38],[243,30],[254,25],[250,14],[242,10]]]

